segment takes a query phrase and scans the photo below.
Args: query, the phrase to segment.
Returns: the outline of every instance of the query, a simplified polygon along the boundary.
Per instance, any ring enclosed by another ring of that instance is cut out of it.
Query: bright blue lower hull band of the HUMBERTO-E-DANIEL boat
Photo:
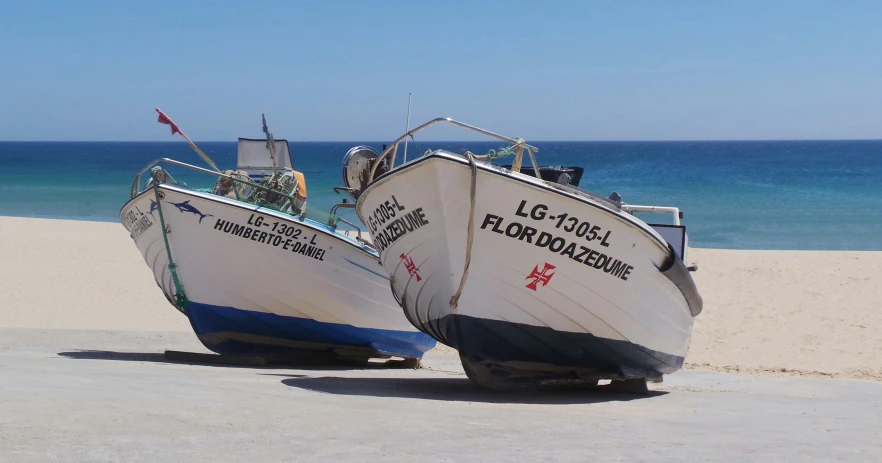
[[[285,355],[343,348],[366,356],[421,358],[435,347],[435,340],[420,332],[357,328],[192,301],[187,305],[187,316],[205,347],[226,355]]]

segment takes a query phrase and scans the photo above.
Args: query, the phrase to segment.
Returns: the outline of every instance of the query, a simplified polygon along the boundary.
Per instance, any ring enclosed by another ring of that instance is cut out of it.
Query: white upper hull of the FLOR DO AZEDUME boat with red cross
[[[359,197],[358,215],[411,322],[420,326],[458,313],[685,356],[693,317],[679,289],[658,271],[670,256],[664,239],[601,200],[502,171],[479,163],[469,276],[456,308],[450,302],[465,263],[467,160],[434,153],[378,179]],[[527,227],[535,231],[530,237],[524,236]],[[554,244],[537,246],[543,234]],[[573,255],[567,253],[571,243]],[[627,264],[627,272],[616,276],[580,262],[593,256],[596,263],[600,253]],[[530,278],[534,269],[540,276],[553,274],[535,290],[528,287],[536,280]]]

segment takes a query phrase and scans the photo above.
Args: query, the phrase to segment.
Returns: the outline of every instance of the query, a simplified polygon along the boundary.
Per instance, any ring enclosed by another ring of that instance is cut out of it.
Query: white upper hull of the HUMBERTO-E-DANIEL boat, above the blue
[[[190,301],[359,328],[417,331],[401,316],[377,256],[352,238],[308,219],[226,198],[168,185],[160,192],[172,258]],[[120,217],[171,299],[175,290],[159,212],[149,213],[154,201],[153,191],[145,191],[126,204]],[[142,217],[152,225],[134,236],[132,219]],[[251,239],[254,235],[244,229],[266,236]],[[295,251],[304,249],[309,255]]]

